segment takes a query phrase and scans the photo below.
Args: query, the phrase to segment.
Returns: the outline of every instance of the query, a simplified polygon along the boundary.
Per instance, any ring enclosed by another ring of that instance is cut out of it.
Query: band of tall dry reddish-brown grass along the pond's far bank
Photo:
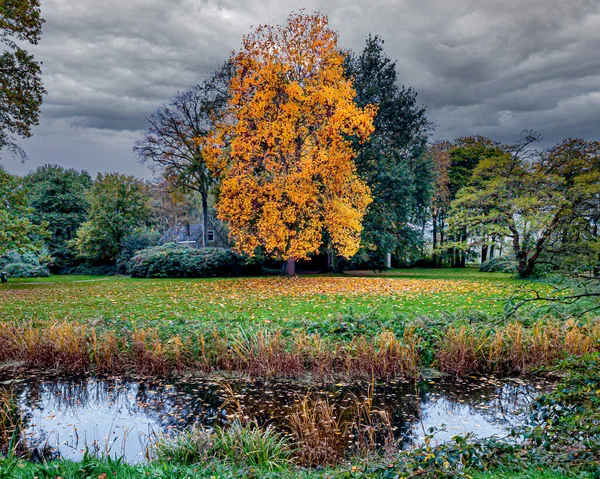
[[[494,327],[454,324],[437,337],[429,344],[407,327],[401,337],[382,331],[349,342],[318,334],[285,338],[281,332],[243,330],[164,338],[152,328],[115,332],[72,322],[0,323],[0,361],[65,372],[231,371],[265,378],[310,374],[321,380],[386,380],[417,377],[423,358],[433,354],[437,366],[453,374],[508,373],[600,350],[600,321],[540,319],[530,327],[516,321]]]

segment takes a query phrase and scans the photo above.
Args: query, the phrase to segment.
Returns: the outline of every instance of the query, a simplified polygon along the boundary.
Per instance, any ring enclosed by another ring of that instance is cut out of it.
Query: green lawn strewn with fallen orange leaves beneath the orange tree
[[[348,275],[131,279],[52,276],[11,279],[0,287],[0,318],[35,322],[116,321],[120,325],[169,323],[254,324],[305,329],[339,323],[340,314],[374,312],[439,317],[445,313],[498,313],[523,282],[507,274],[466,270],[391,270]]]

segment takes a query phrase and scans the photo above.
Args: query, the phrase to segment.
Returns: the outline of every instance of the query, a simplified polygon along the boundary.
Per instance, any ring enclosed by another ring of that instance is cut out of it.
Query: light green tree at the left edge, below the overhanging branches
[[[26,188],[0,167],[0,255],[39,246],[45,225],[34,225],[31,211]]]

